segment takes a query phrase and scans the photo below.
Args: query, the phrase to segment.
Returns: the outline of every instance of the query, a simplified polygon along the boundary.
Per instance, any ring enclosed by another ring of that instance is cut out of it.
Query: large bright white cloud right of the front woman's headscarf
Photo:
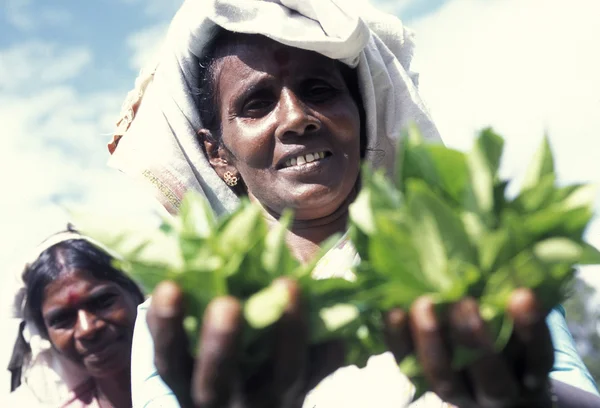
[[[421,93],[446,143],[468,148],[493,125],[514,177],[548,131],[563,182],[600,181],[598,15],[589,0],[451,0],[415,21]],[[600,246],[600,221],[587,236]],[[600,288],[600,268],[583,276]]]

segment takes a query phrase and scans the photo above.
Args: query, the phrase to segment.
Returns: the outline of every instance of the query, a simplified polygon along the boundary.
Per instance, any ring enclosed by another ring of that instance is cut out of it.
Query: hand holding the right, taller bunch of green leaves
[[[508,313],[514,333],[502,353],[494,351],[475,300],[453,304],[446,316],[436,316],[434,304],[419,298],[409,313],[396,309],[386,315],[386,337],[398,361],[414,350],[431,389],[460,408],[550,407],[548,373],[554,349],[535,295],[513,292]],[[481,355],[471,365],[452,368],[452,348],[463,346]]]

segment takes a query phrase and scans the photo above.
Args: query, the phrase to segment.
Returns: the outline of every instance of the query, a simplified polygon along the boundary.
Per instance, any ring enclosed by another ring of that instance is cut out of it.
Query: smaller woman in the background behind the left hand
[[[2,406],[130,408],[137,285],[95,243],[69,231],[44,242],[15,299],[23,319]]]

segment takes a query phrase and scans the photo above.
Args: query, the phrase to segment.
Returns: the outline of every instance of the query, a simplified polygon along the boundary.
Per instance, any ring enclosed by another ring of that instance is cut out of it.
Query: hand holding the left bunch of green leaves
[[[269,361],[259,375],[245,383],[239,376],[237,358],[244,324],[240,302],[222,297],[209,304],[194,361],[182,325],[182,292],[172,282],[156,288],[147,316],[154,362],[182,408],[299,408],[308,391],[341,367],[344,352],[340,344],[308,346],[297,284],[287,279],[275,284],[287,287],[290,304],[275,328]]]

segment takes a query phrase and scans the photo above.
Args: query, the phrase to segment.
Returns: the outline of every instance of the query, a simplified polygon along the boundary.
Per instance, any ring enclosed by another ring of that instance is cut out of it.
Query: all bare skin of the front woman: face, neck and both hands
[[[268,214],[296,209],[305,223],[303,229],[293,226],[290,236],[304,234],[315,246],[331,231],[344,230],[359,172],[359,116],[336,69],[325,57],[260,37],[240,41],[217,69],[223,143],[202,139],[221,177],[226,171],[239,175],[248,195]],[[305,171],[283,169],[282,161],[294,149],[325,149],[331,155],[328,163]],[[328,230],[330,221],[338,224]],[[293,250],[305,245],[292,238]],[[147,316],[155,363],[182,407],[300,407],[311,387],[341,366],[340,344],[308,346],[301,293],[293,281],[279,284],[290,291],[290,304],[277,325],[271,364],[251,384],[240,383],[237,373],[240,302],[226,297],[210,304],[194,360],[187,354],[182,328],[181,291],[171,282],[157,287]],[[450,403],[463,408],[548,406],[553,350],[546,311],[539,309],[531,292],[519,290],[510,313],[515,319],[510,355],[492,350],[471,299],[439,317],[431,301],[421,298],[409,311],[390,311],[385,334],[398,360],[416,351],[431,388]],[[452,344],[478,349],[482,357],[457,372],[450,366]]]

